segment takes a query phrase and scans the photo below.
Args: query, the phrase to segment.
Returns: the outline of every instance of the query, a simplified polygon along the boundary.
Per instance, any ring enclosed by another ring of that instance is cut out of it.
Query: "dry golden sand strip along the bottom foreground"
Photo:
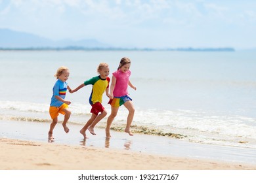
[[[202,159],[173,158],[125,150],[86,148],[47,142],[0,139],[0,169],[195,169],[242,170],[256,169],[256,165],[223,163]]]

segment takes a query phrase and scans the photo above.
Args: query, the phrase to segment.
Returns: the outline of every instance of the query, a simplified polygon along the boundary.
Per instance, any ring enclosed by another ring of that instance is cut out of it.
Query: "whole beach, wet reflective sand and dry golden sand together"
[[[0,169],[256,169],[255,151],[247,148],[116,131],[106,139],[99,128],[96,136],[87,132],[89,139],[83,141],[81,125],[68,124],[66,134],[60,123],[54,129],[55,142],[48,143],[49,125],[0,120]]]

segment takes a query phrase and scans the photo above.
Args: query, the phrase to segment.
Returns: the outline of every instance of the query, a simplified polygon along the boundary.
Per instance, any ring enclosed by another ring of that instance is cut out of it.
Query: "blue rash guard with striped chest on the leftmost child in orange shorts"
[[[53,86],[53,97],[51,98],[51,104],[50,106],[54,107],[60,107],[63,103],[62,101],[59,101],[56,99],[56,95],[62,97],[62,99],[65,99],[66,92],[67,92],[68,83],[62,82],[62,80],[57,80]]]

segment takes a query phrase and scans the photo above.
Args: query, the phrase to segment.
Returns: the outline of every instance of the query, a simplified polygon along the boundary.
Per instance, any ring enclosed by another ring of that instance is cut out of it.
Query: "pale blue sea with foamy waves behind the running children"
[[[50,123],[58,67],[69,67],[68,84],[76,88],[98,75],[100,62],[110,65],[111,78],[123,57],[131,59],[130,80],[137,87],[129,88],[136,109],[133,131],[256,148],[256,53],[251,51],[0,51],[0,122]],[[90,93],[91,86],[67,93],[70,123],[90,118]],[[106,95],[102,103],[110,114]],[[120,107],[112,130],[123,127],[126,118]],[[106,118],[97,127],[105,125]]]

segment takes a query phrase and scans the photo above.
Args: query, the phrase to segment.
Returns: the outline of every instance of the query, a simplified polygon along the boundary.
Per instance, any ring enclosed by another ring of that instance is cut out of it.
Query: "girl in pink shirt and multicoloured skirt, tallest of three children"
[[[129,135],[133,135],[133,133],[130,131],[130,127],[131,123],[133,122],[135,108],[133,107],[132,99],[128,97],[127,88],[130,86],[136,90],[136,87],[133,86],[129,80],[131,75],[131,71],[129,70],[130,66],[130,59],[122,58],[117,71],[113,73],[112,83],[110,85],[110,101],[108,102],[111,105],[111,114],[108,116],[107,120],[106,137],[111,137],[110,125],[116,117],[118,109],[121,105],[124,105],[129,110],[125,132],[129,133]]]

